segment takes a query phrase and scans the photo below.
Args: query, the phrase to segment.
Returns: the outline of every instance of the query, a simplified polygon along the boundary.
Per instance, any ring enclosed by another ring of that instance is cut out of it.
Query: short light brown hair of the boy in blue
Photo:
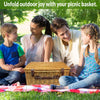
[[[17,26],[12,24],[12,23],[3,24],[1,26],[1,35],[2,35],[2,37],[4,38],[6,33],[11,34],[14,31],[14,29],[17,29]]]

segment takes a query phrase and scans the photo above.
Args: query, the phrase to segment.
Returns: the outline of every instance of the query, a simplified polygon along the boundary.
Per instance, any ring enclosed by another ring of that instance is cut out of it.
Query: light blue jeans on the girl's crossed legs
[[[61,76],[59,83],[62,86],[68,86],[69,89],[89,88],[91,86],[100,86],[100,73],[93,73],[85,79],[79,79],[73,76]]]

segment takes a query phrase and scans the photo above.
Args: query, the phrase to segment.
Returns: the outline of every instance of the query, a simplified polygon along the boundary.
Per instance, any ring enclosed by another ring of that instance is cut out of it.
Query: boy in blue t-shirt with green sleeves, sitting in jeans
[[[11,85],[20,81],[22,66],[25,65],[25,54],[17,40],[17,27],[11,23],[1,26],[4,43],[0,45],[0,85]]]

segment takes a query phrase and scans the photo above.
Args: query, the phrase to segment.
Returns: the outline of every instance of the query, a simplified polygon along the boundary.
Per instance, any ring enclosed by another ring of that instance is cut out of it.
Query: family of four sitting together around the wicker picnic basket
[[[64,62],[70,68],[70,76],[59,78],[60,86],[51,89],[78,89],[100,86],[99,27],[86,24],[78,30],[69,29],[62,18],[55,18],[50,24],[43,16],[35,16],[30,23],[31,34],[21,38],[22,47],[15,43],[17,27],[11,23],[1,26],[4,43],[0,45],[0,85],[25,83],[24,67],[34,62]],[[45,30],[45,34],[42,31]],[[56,37],[52,39],[52,32]]]

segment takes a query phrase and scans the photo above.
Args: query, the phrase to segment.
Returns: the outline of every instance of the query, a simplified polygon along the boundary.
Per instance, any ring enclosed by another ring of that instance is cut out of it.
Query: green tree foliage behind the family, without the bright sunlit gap
[[[50,22],[55,17],[61,17],[68,21],[70,26],[81,26],[87,23],[95,23],[100,26],[100,9],[34,9],[36,14],[43,15]],[[0,9],[0,23],[4,23],[5,17],[10,17],[11,22],[18,19],[18,23],[27,20],[28,10]],[[34,17],[34,16],[33,16]]]

